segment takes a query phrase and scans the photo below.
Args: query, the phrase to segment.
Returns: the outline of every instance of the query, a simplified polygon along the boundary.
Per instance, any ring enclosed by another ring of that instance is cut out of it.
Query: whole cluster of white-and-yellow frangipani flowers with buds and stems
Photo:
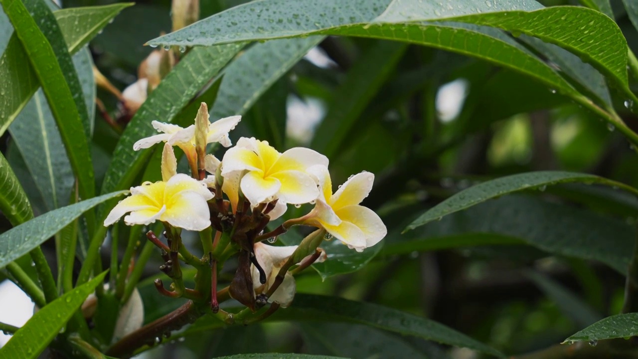
[[[149,239],[163,249],[167,259],[163,270],[169,277],[175,274],[175,266],[179,271],[180,260],[197,266],[198,270],[208,264],[214,277],[217,264],[239,254],[239,268],[230,284],[230,295],[251,310],[267,303],[286,307],[295,293],[288,270],[297,266],[296,272],[325,260],[325,252],[318,248],[325,238],[336,238],[362,251],[385,236],[387,229],[378,215],[360,206],[372,189],[374,175],[355,174],[333,193],[329,160],[312,149],[291,148],[279,153],[266,141],[241,137],[221,161],[207,154],[207,144],[232,146],[228,132],[240,120],[241,116],[231,116],[211,123],[207,106],[202,103],[195,124],[186,128],[153,121],[160,134],[140,139],[133,149],[165,142],[162,180],[131,188],[131,195],[113,208],[104,225],[114,224],[122,216],[128,225],[161,221],[167,229],[168,245],[154,234],[149,234]],[[177,173],[174,146],[186,155],[190,176]],[[315,204],[308,214],[288,219],[264,233],[271,220],[285,214],[288,204],[306,203]],[[308,225],[317,230],[299,246],[262,243],[285,233],[292,225]],[[189,262],[193,256],[181,245],[181,229],[200,232],[205,255],[199,261]],[[217,310],[216,278],[208,285],[212,286],[210,296],[203,294],[201,286],[185,289],[179,283],[174,283],[174,291],[168,293],[207,300]],[[163,287],[162,290],[165,291]]]

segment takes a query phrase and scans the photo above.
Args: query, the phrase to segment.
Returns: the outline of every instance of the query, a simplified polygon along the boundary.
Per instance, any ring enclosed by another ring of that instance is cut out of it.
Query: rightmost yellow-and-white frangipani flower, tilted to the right
[[[316,176],[321,194],[315,208],[304,216],[304,224],[325,229],[357,252],[385,237],[388,231],[381,218],[373,210],[359,205],[372,189],[374,174],[360,172],[350,176],[332,194],[332,181],[326,167],[313,166],[308,172]]]

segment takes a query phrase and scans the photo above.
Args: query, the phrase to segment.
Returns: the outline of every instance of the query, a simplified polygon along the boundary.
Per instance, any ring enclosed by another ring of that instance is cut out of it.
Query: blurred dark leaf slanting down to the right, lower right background
[[[579,328],[591,325],[602,318],[584,300],[555,280],[536,271],[526,271],[525,275]]]

